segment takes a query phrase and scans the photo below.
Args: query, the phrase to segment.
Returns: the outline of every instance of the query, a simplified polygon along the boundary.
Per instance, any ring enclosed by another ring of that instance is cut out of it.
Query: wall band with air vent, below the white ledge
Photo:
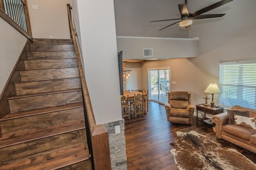
[[[146,60],[198,56],[198,38],[117,37],[117,47],[118,51],[123,51],[123,59]],[[153,57],[144,57],[143,49],[153,49]]]

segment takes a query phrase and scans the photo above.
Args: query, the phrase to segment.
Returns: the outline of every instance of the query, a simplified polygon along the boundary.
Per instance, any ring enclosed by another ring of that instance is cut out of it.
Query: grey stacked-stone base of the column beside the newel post
[[[115,126],[120,125],[120,133],[116,133]],[[124,137],[124,119],[104,124],[108,130],[110,158],[112,170],[127,170],[127,159]]]

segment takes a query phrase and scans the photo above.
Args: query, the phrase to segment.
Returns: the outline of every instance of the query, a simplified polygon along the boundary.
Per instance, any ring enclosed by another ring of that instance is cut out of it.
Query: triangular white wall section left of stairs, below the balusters
[[[0,18],[0,92],[2,92],[27,38]]]

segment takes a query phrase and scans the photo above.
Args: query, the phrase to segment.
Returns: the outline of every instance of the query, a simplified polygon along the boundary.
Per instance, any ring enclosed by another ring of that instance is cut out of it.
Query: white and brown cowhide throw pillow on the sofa
[[[244,117],[240,115],[234,115],[235,123],[234,125],[250,127],[256,130],[256,117]]]

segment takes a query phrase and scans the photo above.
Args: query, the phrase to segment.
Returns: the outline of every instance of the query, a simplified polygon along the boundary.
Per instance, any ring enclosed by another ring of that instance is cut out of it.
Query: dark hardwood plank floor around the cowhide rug
[[[212,141],[216,138],[210,125],[198,122],[194,117],[193,125],[172,124],[167,121],[165,107],[149,101],[149,111],[144,116],[134,115],[125,119],[126,156],[128,170],[178,170],[170,150],[177,131],[196,131]],[[223,141],[225,147],[233,148],[256,163],[256,154]]]

